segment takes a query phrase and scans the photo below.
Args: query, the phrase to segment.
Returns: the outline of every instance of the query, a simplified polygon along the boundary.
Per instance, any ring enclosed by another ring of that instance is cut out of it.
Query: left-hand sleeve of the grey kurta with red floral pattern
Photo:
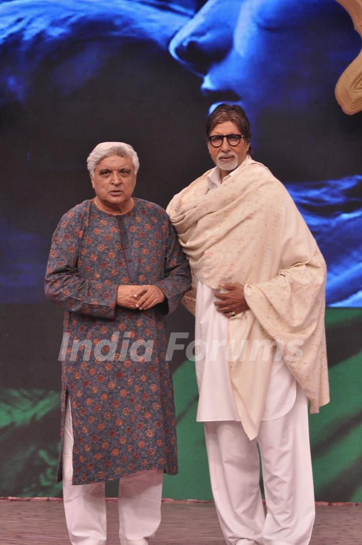
[[[88,218],[70,210],[53,234],[45,277],[45,294],[65,310],[100,318],[113,318],[117,283],[81,277],[81,241]]]

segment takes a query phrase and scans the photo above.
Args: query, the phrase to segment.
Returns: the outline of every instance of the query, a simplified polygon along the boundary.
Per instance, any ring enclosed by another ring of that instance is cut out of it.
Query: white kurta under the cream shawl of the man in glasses
[[[223,181],[231,178],[238,169],[228,174]],[[208,176],[209,191],[220,185],[220,171],[215,167]],[[221,289],[220,289],[221,290]],[[220,291],[197,281],[195,340],[201,341],[203,356],[196,358],[196,377],[199,401],[196,420],[198,422],[234,420],[240,421],[234,402],[230,369],[227,357],[228,319],[216,311],[215,293]],[[248,338],[255,320],[252,312],[243,313],[240,320],[240,336]],[[256,362],[257,365],[257,362]],[[262,364],[261,364],[262,365]],[[262,420],[274,420],[284,416],[293,407],[296,383],[282,358],[274,358],[271,366],[269,389]]]

